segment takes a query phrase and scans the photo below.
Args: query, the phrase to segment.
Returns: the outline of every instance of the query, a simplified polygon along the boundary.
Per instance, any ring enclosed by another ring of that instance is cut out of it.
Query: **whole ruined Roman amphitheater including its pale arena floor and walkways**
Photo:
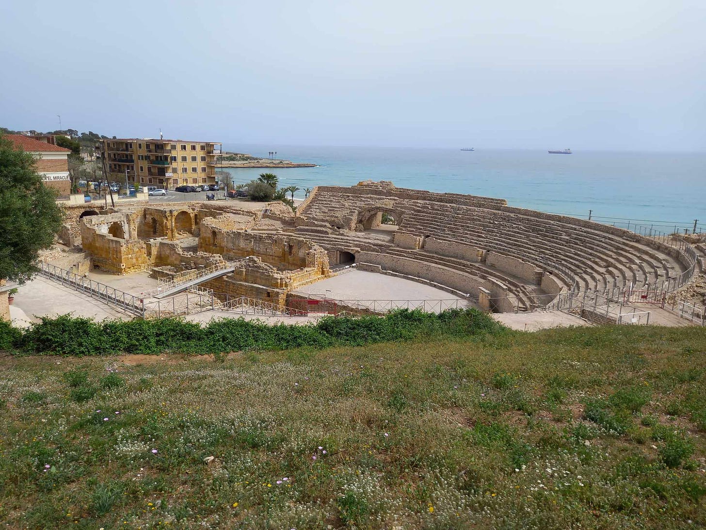
[[[78,206],[60,239],[73,251],[42,264],[45,277],[142,317],[477,307],[646,323],[655,307],[674,309],[706,256],[681,237],[371,181],[316,187],[296,213],[249,201]],[[91,271],[150,282],[123,291]],[[327,288],[363,273],[344,294]],[[376,297],[373,277],[404,281],[404,295]],[[415,286],[438,295],[417,298]]]

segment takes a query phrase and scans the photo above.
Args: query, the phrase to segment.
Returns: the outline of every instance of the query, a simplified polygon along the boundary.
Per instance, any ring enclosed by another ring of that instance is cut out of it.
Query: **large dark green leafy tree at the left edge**
[[[39,270],[39,252],[52,246],[64,218],[35,163],[0,136],[0,278],[19,283]]]

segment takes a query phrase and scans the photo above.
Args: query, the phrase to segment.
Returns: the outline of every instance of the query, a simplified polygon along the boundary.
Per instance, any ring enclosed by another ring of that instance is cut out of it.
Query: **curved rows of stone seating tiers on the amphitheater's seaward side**
[[[436,194],[395,188],[388,182],[365,182],[352,188],[319,187],[316,196],[299,212],[299,216],[302,223],[317,227],[328,223],[339,228],[352,228],[359,222],[357,219],[361,213],[376,208],[394,212],[400,219],[399,234],[432,236],[434,240],[513,257],[564,276],[572,283],[576,281],[581,290],[627,284],[639,289],[674,278],[686,270],[683,256],[676,257],[669,248],[626,230],[506,204],[503,199]],[[400,255],[403,250],[377,242],[371,245],[352,236],[351,232],[340,235],[321,233],[319,236],[327,240],[328,245],[340,246],[347,240],[348,246],[369,245],[367,249],[377,247],[378,252],[388,254]],[[437,259],[423,250],[416,254],[420,261]],[[481,274],[479,269],[484,268],[483,264],[451,262],[447,257],[442,261],[475,274]],[[568,276],[569,273],[572,277]],[[522,293],[531,300],[531,285],[520,287],[522,282],[513,284],[508,281],[511,278],[504,278],[503,271],[496,271],[495,277],[513,292]]]

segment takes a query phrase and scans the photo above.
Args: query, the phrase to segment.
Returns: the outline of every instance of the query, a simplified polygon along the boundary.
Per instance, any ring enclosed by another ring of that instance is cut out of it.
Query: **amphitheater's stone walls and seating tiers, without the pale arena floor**
[[[296,214],[282,203],[258,211],[193,203],[109,208],[76,223],[100,269],[176,277],[238,261],[203,286],[280,306],[297,287],[351,264],[495,312],[544,307],[567,290],[654,288],[690,266],[680,250],[621,228],[391,182],[316,187]],[[75,228],[65,232],[78,240]]]

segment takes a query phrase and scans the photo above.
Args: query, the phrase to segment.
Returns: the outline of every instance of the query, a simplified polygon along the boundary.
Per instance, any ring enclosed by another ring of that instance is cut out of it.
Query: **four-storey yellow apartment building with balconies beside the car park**
[[[221,143],[163,140],[107,139],[101,156],[109,180],[138,182],[142,186],[174,189],[181,184],[215,184],[217,157]]]

